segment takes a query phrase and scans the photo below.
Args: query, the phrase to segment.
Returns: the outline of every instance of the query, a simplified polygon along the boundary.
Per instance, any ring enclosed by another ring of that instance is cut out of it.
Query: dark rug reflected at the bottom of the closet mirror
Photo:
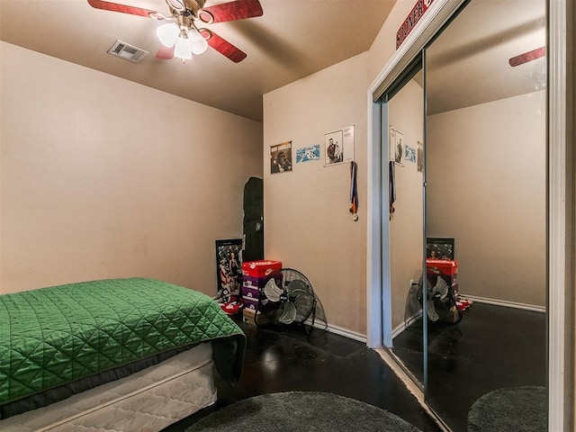
[[[498,389],[475,401],[468,413],[468,432],[545,432],[545,387]]]

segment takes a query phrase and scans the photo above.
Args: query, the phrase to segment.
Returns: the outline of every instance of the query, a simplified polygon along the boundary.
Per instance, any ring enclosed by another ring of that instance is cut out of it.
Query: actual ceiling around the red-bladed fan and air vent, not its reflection
[[[114,1],[169,15],[164,0]],[[157,59],[161,22],[94,9],[86,0],[0,0],[0,39],[262,121],[262,94],[369,49],[395,0],[260,3],[263,16],[205,25],[247,53],[238,64],[213,49],[185,64]],[[149,54],[140,63],[112,57],[115,40]]]

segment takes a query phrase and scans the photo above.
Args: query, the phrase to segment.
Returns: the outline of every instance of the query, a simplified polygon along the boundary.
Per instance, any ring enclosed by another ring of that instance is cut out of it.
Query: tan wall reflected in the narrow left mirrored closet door
[[[424,141],[424,92],[414,80],[402,87],[388,103],[388,121],[404,135],[404,144],[417,148]],[[406,318],[410,281],[418,283],[422,270],[423,191],[422,173],[414,163],[395,167],[396,202],[390,222],[392,329]],[[411,311],[410,313],[413,313]]]

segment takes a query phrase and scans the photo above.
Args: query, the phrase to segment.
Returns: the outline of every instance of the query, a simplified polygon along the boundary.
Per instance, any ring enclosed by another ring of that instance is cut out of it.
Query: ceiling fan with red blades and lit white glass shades
[[[206,0],[165,0],[170,15],[157,11],[117,4],[104,0],[87,0],[96,9],[139,15],[159,21],[167,21],[157,28],[157,37],[162,42],[157,58],[192,58],[202,54],[210,46],[235,63],[242,61],[247,54],[221,38],[214,31],[205,29],[202,24],[225,23],[262,16],[262,6],[258,0],[234,0],[229,3],[204,7]]]

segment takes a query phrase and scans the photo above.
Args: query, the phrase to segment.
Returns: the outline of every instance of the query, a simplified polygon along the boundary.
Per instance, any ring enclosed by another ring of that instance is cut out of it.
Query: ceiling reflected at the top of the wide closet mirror
[[[545,46],[545,0],[473,0],[426,54],[427,113],[542,90],[545,58],[509,58]]]

